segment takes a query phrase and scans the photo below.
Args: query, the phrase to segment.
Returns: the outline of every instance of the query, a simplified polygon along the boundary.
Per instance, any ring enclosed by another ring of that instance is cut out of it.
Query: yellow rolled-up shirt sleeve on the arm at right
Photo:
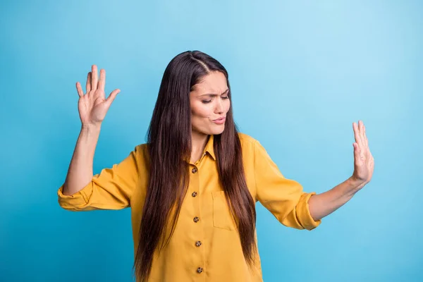
[[[315,192],[304,192],[295,180],[283,177],[266,149],[255,141],[254,166],[257,200],[284,226],[312,230],[321,220],[314,221],[308,200]]]

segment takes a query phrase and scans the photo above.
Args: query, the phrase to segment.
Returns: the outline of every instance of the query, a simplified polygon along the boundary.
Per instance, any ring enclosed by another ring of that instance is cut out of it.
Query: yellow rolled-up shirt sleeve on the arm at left
[[[92,177],[90,183],[73,195],[63,195],[63,183],[57,191],[59,205],[75,212],[130,207],[130,197],[137,187],[142,165],[140,146],[135,147],[121,163],[103,168]]]

